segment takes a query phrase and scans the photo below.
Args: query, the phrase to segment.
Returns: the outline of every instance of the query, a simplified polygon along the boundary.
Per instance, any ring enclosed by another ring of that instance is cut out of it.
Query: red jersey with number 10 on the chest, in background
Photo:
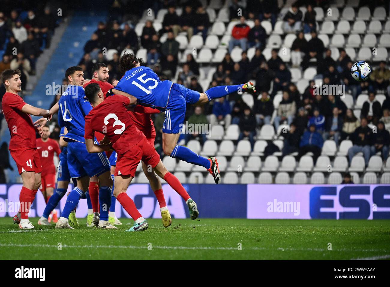
[[[60,146],[54,139],[48,139],[46,142],[42,138],[37,139],[37,150],[42,163],[42,176],[55,174],[54,153],[61,153]]]

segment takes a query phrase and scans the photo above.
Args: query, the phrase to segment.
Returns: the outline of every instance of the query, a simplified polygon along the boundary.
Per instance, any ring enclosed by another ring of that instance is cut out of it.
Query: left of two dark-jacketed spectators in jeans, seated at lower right
[[[368,166],[371,155],[370,144],[372,141],[372,130],[367,124],[367,119],[362,118],[360,120],[360,127],[356,128],[355,132],[351,135],[353,146],[348,150],[349,164],[351,164],[352,158],[356,153],[363,152],[365,166]]]

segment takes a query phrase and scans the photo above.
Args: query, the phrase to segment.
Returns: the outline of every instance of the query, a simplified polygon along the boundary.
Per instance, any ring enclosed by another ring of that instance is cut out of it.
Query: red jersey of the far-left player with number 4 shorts
[[[9,150],[37,147],[37,137],[31,116],[22,112],[24,105],[26,102],[17,94],[7,92],[3,96],[2,109],[11,134]]]

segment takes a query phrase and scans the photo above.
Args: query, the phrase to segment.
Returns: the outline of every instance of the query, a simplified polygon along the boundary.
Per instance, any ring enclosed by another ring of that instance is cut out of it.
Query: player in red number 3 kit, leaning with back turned
[[[140,231],[148,227],[147,221],[138,212],[133,200],[126,194],[141,160],[150,165],[158,176],[167,181],[183,197],[190,210],[191,219],[195,220],[199,216],[196,203],[190,198],[176,176],[167,171],[160,156],[145,135],[135,127],[126,109],[130,104],[129,98],[113,95],[104,100],[103,92],[97,84],[90,84],[85,89],[85,95],[94,107],[85,116],[85,144],[90,153],[113,148],[118,154],[114,195],[135,220],[134,225],[127,231]],[[95,132],[105,134],[105,138],[101,141],[103,144],[94,143]]]

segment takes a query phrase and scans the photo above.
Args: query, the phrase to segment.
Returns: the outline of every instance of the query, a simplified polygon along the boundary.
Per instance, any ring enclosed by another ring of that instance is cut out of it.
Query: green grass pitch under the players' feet
[[[0,260],[349,260],[390,258],[390,220],[148,219],[144,232],[21,230],[0,218]],[[330,245],[331,244],[331,245]],[[62,246],[59,248],[58,246]],[[331,250],[330,250],[331,248]],[[60,250],[59,250],[60,249]]]

